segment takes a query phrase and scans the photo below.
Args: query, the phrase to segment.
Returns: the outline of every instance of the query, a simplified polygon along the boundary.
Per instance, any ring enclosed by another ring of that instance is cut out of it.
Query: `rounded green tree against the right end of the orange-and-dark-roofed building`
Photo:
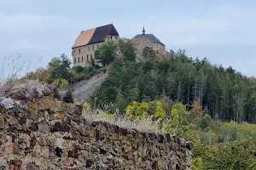
[[[96,59],[103,66],[109,65],[116,57],[117,54],[117,43],[113,40],[103,42],[100,48],[98,49],[98,54],[96,54]]]

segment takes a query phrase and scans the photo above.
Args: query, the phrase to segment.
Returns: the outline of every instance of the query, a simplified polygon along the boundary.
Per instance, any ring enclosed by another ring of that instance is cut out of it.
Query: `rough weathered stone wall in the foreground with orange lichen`
[[[0,169],[191,169],[192,143],[87,122],[53,86],[13,88],[0,112]]]

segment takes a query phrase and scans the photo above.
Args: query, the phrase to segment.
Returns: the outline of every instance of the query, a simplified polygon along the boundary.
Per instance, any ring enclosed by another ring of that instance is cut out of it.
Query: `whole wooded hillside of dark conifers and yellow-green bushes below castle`
[[[130,42],[104,42],[96,59],[105,67],[92,63],[72,68],[71,61],[61,54],[47,68],[30,72],[26,78],[68,90],[75,82],[108,71],[108,78],[84,109],[100,111],[106,121],[146,122],[158,132],[192,141],[195,170],[256,170],[253,77],[231,66],[192,59],[181,49],[171,50],[170,58],[163,59],[145,48],[140,62],[136,62],[134,50]]]

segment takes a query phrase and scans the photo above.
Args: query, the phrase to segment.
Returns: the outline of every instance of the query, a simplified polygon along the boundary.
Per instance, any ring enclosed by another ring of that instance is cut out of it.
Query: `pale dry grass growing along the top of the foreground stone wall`
[[[143,120],[136,120],[131,122],[127,116],[121,116],[118,112],[115,114],[110,114],[107,111],[101,111],[96,109],[96,111],[90,108],[84,109],[83,115],[84,119],[90,122],[109,122],[119,127],[125,128],[136,128],[139,131],[151,132],[151,133],[162,133],[159,128],[158,122],[153,122],[151,117],[146,117]]]

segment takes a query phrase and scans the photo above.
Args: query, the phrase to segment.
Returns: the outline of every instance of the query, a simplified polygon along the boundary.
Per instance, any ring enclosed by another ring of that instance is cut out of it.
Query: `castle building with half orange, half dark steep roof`
[[[82,31],[72,46],[73,66],[90,65],[102,42],[119,39],[113,24]]]

